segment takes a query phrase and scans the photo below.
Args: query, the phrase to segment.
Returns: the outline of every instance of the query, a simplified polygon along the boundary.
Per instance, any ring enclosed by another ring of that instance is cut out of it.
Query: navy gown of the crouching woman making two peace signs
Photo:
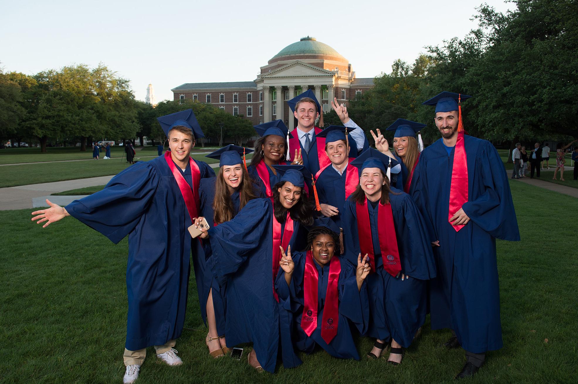
[[[323,308],[325,306],[325,295],[327,294],[327,282],[329,280],[329,263],[320,266],[315,260],[313,264],[317,268],[317,328],[311,336],[303,331],[301,327],[301,317],[303,315],[303,274],[305,274],[305,252],[297,252],[291,257],[295,263],[295,270],[291,277],[291,284],[287,285],[283,269],[279,269],[276,288],[279,294],[279,304],[282,310],[291,311],[295,314],[295,323],[292,328],[293,340],[300,351],[312,353],[316,344],[325,349],[331,356],[342,359],[359,360],[360,356],[353,341],[350,323],[353,323],[360,333],[365,333],[369,321],[369,301],[367,287],[364,283],[361,290],[357,289],[355,280],[355,267],[344,258],[339,258],[341,272],[339,273],[338,294],[339,294],[339,322],[337,334],[327,344],[321,337],[321,319],[323,318]],[[334,256],[338,257],[338,256]]]

